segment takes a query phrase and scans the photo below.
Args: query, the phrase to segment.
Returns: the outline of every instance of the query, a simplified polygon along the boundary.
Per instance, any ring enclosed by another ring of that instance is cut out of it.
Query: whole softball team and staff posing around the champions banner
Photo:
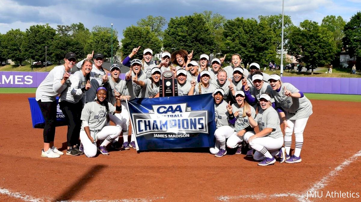
[[[193,58],[193,51],[163,51],[156,64],[149,48],[143,50],[142,59],[134,59],[140,48],[134,48],[122,64],[112,64],[109,70],[103,68],[102,53],[93,51],[78,61],[77,55],[69,52],[64,64],[49,72],[36,89],[45,120],[41,157],[58,158],[64,152],[95,157],[98,153],[109,155],[110,148],[136,149],[126,101],[159,97],[162,73],[171,71],[178,96],[187,96],[185,101],[206,93],[214,98],[217,129],[210,154],[223,157],[234,149],[235,157],[243,153],[260,166],[302,161],[303,132],[312,104],[291,83],[283,83],[278,74],[262,72],[256,62],[249,69],[243,68],[239,54],[233,54],[230,65],[225,66],[226,56],[210,60],[207,54]],[[121,72],[124,68],[129,71]],[[125,79],[120,78],[121,73]],[[68,124],[64,152],[54,146],[57,97]]]

